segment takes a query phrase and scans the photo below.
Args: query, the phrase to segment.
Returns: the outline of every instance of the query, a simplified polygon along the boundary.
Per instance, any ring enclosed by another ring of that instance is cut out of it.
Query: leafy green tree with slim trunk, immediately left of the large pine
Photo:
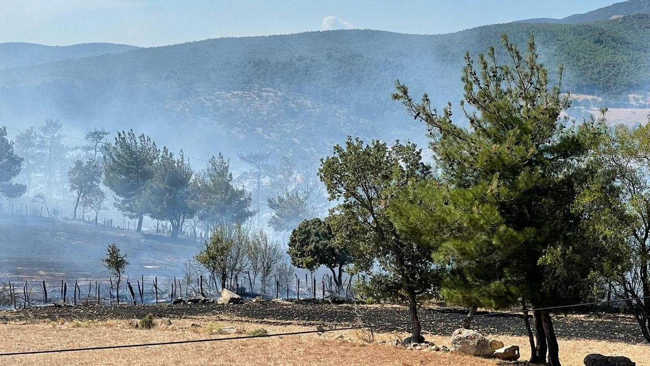
[[[421,340],[417,296],[435,289],[439,268],[432,263],[434,247],[418,246],[395,229],[386,213],[395,192],[431,175],[421,151],[399,141],[388,147],[380,141],[365,145],[348,137],[345,147],[335,145],[334,154],[321,160],[318,171],[330,201],[340,201],[335,212],[354,234],[352,255],[355,270],[379,268],[374,285],[391,287],[406,298],[413,322],[411,339]],[[372,281],[371,281],[372,282]]]

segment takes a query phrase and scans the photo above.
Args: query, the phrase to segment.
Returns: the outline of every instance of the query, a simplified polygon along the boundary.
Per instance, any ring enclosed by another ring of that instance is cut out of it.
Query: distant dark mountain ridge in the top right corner
[[[562,23],[578,24],[591,21],[610,20],[633,14],[650,14],[649,0],[628,0],[599,8],[584,14],[573,14],[562,19],[536,18],[519,20],[517,23]]]

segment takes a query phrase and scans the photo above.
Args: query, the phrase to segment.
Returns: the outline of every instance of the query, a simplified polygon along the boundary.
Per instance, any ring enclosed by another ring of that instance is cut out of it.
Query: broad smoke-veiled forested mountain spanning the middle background
[[[455,103],[465,51],[475,57],[498,46],[504,33],[519,46],[534,35],[551,70],[564,64],[563,89],[604,97],[603,106],[627,106],[628,93],[648,91],[650,15],[636,14],[448,35],[351,30],[220,38],[0,70],[0,125],[52,117],[77,130],[134,128],[190,152],[234,156],[265,148],[313,159],[348,134],[421,138],[390,100],[395,79],[414,94],[428,91],[434,105]]]

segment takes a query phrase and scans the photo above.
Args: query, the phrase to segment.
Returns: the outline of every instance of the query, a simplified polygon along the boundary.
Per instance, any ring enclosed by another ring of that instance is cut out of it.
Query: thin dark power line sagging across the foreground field
[[[474,315],[474,318],[482,317],[493,317],[505,314],[514,314],[514,313],[526,313],[528,311],[543,311],[543,310],[552,310],[552,309],[566,309],[569,307],[579,307],[587,305],[600,305],[604,303],[616,303],[616,302],[628,302],[633,300],[646,300],[650,299],[650,296],[644,296],[640,298],[630,298],[623,300],[609,300],[602,302],[588,302],[588,303],[577,303],[572,305],[561,305],[561,306],[551,306],[551,307],[539,307],[537,309],[525,309],[525,310],[513,310],[513,311],[503,311],[499,313],[487,313],[487,314],[478,314]],[[467,318],[467,315],[460,317],[448,317],[448,318],[437,318],[437,319],[426,319],[420,320],[419,323],[430,323],[430,322],[441,322],[444,320],[461,320]],[[269,337],[281,337],[287,335],[302,335],[302,334],[311,334],[311,333],[325,333],[326,331],[343,331],[343,330],[357,330],[357,329],[372,329],[372,328],[383,328],[387,326],[400,326],[413,324],[415,322],[395,322],[395,323],[386,323],[386,324],[375,324],[375,325],[366,325],[366,326],[351,326],[344,328],[332,328],[332,329],[322,329],[322,330],[305,330],[305,331],[289,331],[285,333],[274,333],[274,334],[265,334],[265,335],[241,335],[238,337],[225,337],[225,338],[209,338],[209,339],[192,339],[186,341],[168,341],[168,342],[156,342],[156,343],[138,343],[131,345],[115,345],[115,346],[96,346],[96,347],[83,347],[83,348],[64,348],[59,350],[38,350],[38,351],[24,351],[24,352],[7,352],[0,353],[2,356],[23,356],[30,354],[49,354],[49,353],[62,353],[62,352],[79,352],[79,351],[93,351],[93,350],[112,350],[117,348],[136,348],[136,347],[149,347],[149,346],[168,346],[168,345],[185,345],[189,343],[205,343],[205,342],[219,342],[219,341],[235,341],[238,339],[253,339],[253,338],[269,338]]]

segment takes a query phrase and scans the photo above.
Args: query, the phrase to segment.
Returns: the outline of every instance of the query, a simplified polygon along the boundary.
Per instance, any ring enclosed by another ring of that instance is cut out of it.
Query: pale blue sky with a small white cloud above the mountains
[[[0,0],[0,42],[164,46],[324,29],[440,34],[564,18],[616,0]]]

